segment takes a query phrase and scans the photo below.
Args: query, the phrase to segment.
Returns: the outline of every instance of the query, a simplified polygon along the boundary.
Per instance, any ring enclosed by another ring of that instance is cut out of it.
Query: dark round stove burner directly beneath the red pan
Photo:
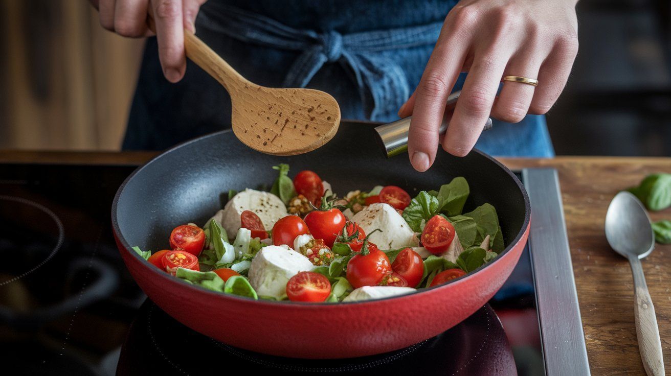
[[[121,349],[117,374],[199,375],[211,367],[211,362],[203,362],[203,359],[217,359],[217,364],[235,364],[238,369],[271,371],[282,375],[516,373],[503,327],[489,306],[484,306],[447,332],[399,351],[354,359],[290,359],[217,342],[176,322],[147,300]]]

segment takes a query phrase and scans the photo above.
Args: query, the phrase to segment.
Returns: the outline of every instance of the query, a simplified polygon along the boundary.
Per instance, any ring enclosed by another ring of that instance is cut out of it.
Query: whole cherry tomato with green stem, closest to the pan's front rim
[[[354,288],[376,286],[390,271],[389,257],[364,240],[361,251],[347,263],[347,280]]]

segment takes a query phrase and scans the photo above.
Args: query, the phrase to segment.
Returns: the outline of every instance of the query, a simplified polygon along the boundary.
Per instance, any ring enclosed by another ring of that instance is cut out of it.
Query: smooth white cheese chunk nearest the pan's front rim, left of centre
[[[250,284],[260,296],[277,300],[287,296],[287,282],[301,271],[310,271],[314,265],[307,257],[289,247],[269,245],[262,248],[247,274]]]

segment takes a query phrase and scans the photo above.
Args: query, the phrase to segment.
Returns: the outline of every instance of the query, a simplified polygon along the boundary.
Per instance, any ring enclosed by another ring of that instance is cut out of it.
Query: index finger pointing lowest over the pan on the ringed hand
[[[415,170],[420,172],[428,170],[435,160],[445,104],[470,40],[464,38],[464,33],[455,32],[456,26],[450,25],[446,21],[415,90],[412,106],[404,109],[414,114],[408,133],[408,155]]]

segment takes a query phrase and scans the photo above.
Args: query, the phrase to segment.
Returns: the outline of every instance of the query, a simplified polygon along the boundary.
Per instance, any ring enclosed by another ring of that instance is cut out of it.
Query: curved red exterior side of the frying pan
[[[115,237],[140,288],[162,310],[193,330],[258,353],[330,359],[402,349],[452,328],[501,288],[528,235],[529,227],[493,263],[450,284],[352,304],[278,304],[216,294],[159,271]]]

